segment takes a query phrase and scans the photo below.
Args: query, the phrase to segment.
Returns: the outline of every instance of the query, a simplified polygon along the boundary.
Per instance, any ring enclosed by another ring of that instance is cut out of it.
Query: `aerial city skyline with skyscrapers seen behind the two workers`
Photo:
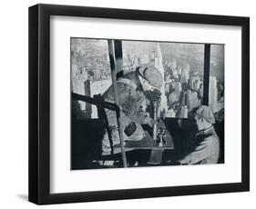
[[[188,117],[203,97],[203,44],[123,41],[123,71],[153,65],[163,76],[160,115]],[[210,108],[224,107],[224,45],[214,45],[210,54]],[[72,91],[81,95],[103,94],[111,85],[107,40],[71,39]],[[78,73],[75,73],[78,72]],[[85,82],[89,91],[85,89]],[[81,104],[86,111],[86,105]],[[91,117],[97,117],[92,108]]]

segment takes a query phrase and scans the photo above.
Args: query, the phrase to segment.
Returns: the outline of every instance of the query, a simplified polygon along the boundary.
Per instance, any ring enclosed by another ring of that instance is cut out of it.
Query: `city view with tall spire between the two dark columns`
[[[123,41],[125,74],[153,65],[162,73],[161,116],[187,118],[203,96],[204,45]]]

